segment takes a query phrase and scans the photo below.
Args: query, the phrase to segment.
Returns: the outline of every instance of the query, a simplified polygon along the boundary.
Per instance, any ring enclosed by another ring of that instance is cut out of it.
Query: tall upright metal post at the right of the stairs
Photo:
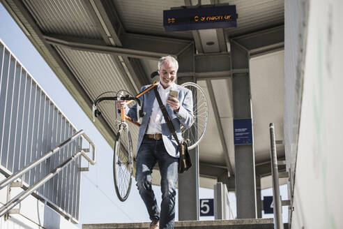
[[[273,180],[273,202],[274,202],[274,228],[284,229],[282,223],[282,211],[280,200],[280,187],[279,187],[279,172],[277,170],[277,155],[275,145],[275,131],[274,124],[269,124],[270,131],[270,163],[272,168],[272,180]]]

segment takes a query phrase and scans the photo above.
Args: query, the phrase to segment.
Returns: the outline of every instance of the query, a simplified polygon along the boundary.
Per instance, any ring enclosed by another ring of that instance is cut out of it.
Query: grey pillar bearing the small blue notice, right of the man
[[[231,40],[230,44],[232,70],[248,70],[248,51],[234,40]],[[249,73],[233,73],[232,89],[234,100],[234,119],[252,118]],[[237,218],[254,219],[257,217],[257,209],[253,144],[235,145],[235,175]]]

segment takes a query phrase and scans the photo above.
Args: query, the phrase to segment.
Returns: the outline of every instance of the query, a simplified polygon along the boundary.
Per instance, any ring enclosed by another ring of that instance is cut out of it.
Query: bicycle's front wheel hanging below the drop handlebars
[[[126,147],[124,147],[126,146]],[[128,128],[120,128],[114,142],[113,177],[116,195],[122,202],[128,198],[132,183],[133,151]]]

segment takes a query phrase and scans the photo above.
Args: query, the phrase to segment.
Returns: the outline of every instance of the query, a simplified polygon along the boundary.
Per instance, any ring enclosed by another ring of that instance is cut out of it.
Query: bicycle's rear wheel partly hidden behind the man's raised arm
[[[205,92],[194,82],[185,82],[181,86],[190,89],[193,95],[193,116],[194,123],[190,128],[183,129],[182,137],[190,140],[188,149],[195,148],[204,138],[208,123],[208,103]]]

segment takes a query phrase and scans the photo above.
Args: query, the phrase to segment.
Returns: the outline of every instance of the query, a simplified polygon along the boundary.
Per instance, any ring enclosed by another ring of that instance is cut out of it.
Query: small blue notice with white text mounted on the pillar
[[[251,119],[234,119],[234,144],[252,144]]]

